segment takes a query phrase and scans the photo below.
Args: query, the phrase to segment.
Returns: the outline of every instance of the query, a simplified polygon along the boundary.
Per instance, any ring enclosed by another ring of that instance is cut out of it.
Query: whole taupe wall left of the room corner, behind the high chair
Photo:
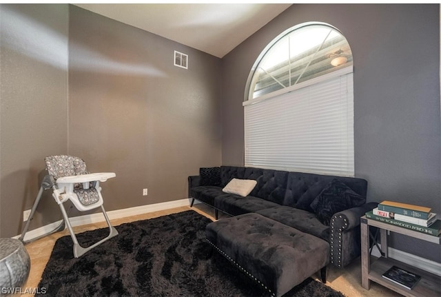
[[[106,210],[186,198],[187,176],[220,165],[220,59],[67,4],[0,13],[1,237],[21,233],[50,154],[116,172]],[[30,229],[61,218],[42,203]]]

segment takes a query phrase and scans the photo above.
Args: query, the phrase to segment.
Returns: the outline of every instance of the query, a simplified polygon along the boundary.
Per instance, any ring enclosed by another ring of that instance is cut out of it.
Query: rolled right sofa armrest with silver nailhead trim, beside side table
[[[345,267],[360,256],[360,217],[377,207],[378,203],[366,203],[360,207],[343,210],[331,218],[329,262]]]

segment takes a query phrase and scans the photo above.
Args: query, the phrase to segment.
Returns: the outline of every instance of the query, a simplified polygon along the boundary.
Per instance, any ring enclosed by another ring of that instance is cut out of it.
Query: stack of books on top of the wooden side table
[[[378,207],[367,212],[366,217],[433,236],[441,234],[441,220],[429,207],[382,201]]]

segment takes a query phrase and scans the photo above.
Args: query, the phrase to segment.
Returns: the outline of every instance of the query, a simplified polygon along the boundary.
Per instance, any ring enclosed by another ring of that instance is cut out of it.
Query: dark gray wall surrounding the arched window
[[[258,54],[284,30],[321,21],[351,45],[355,172],[369,182],[368,201],[426,205],[441,214],[439,12],[438,4],[294,4],[285,10],[223,58],[223,165],[243,164],[242,101]],[[393,246],[441,262],[438,245],[393,236]]]

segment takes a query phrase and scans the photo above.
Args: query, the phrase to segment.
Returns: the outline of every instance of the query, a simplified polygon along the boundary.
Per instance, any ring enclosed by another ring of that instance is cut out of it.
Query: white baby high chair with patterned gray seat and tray
[[[41,194],[43,193],[43,190],[48,190],[51,187],[53,190],[52,196],[55,201],[57,201],[57,204],[61,209],[61,214],[63,214],[63,222],[61,222],[59,227],[52,230],[52,232],[49,232],[48,234],[60,231],[60,229],[64,229],[65,223],[69,229],[72,241],[74,242],[75,258],[79,258],[85,252],[88,252],[90,249],[93,249],[97,245],[105,242],[105,240],[118,235],[116,229],[110,224],[109,217],[107,216],[107,213],[103,207],[103,196],[101,196],[101,187],[99,187],[100,181],[104,182],[107,181],[107,178],[115,177],[116,174],[114,174],[114,172],[89,173],[86,170],[84,161],[75,156],[48,156],[45,158],[45,163],[46,170],[48,170],[48,175],[43,178],[37,199],[32,206],[30,216],[28,221],[26,221],[23,232],[21,232],[21,237],[19,239],[23,241],[23,243],[26,243],[23,238],[25,233],[28,231],[29,223],[34,215],[35,209],[37,209]],[[90,247],[81,247],[76,239],[68,214],[66,213],[63,205],[63,203],[69,200],[76,207],[76,209],[81,212],[95,209],[96,207],[101,207],[105,221],[109,226],[109,235],[102,240],[99,240],[97,243],[94,243],[94,245],[90,245]],[[44,234],[43,236],[48,234]],[[39,238],[43,236],[39,236]],[[34,238],[34,240],[35,239],[37,238]]]

